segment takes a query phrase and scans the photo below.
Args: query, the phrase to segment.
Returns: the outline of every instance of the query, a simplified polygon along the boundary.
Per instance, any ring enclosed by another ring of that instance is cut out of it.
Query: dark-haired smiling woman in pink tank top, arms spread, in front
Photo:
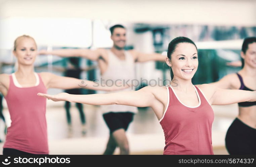
[[[164,154],[213,154],[211,105],[256,101],[256,91],[225,90],[208,84],[195,87],[191,79],[198,68],[197,53],[195,43],[186,37],[169,43],[166,63],[172,68],[176,87],[147,86],[134,92],[96,95],[38,95],[89,105],[152,107],[164,130]]]

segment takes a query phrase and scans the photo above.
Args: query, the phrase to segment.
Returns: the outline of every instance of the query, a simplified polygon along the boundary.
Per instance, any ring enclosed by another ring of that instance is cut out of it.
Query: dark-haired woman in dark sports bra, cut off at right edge
[[[222,89],[256,90],[256,37],[245,38],[241,56],[243,69],[212,85]],[[229,154],[256,154],[256,102],[238,103],[239,115],[226,134]]]

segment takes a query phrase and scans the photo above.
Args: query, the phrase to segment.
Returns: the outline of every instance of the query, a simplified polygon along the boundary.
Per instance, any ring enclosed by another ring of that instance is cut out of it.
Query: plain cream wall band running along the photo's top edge
[[[1,16],[78,17],[118,21],[256,25],[255,0],[2,0]]]

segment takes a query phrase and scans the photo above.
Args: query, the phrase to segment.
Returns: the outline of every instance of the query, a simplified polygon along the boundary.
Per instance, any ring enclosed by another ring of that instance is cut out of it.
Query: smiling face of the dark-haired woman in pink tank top
[[[191,43],[178,43],[166,63],[176,79],[192,79],[198,68],[197,48]]]

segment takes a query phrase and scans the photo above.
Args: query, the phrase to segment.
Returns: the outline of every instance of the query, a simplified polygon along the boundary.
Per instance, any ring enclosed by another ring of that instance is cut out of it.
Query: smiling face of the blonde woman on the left
[[[37,55],[35,40],[30,37],[17,38],[13,54],[16,56],[18,64],[32,65]]]

